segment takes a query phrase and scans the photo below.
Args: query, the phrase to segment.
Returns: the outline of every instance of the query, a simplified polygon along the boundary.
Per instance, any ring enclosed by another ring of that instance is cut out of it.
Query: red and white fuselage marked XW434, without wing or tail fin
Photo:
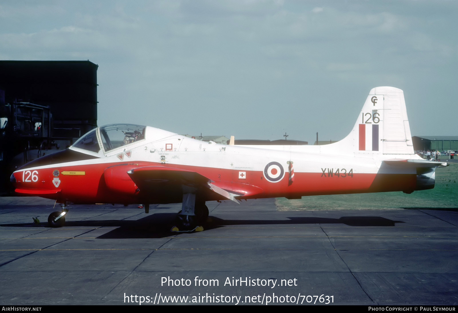
[[[144,127],[136,140],[115,147],[103,139],[103,128],[94,132],[98,142],[77,142],[15,171],[16,191],[73,203],[181,202],[180,196],[162,191],[142,193],[127,171],[145,166],[199,173],[237,199],[418,189],[415,168],[389,166],[382,157],[358,155],[339,145],[220,145]],[[97,143],[100,149],[93,148]],[[214,194],[205,200],[224,197]]]

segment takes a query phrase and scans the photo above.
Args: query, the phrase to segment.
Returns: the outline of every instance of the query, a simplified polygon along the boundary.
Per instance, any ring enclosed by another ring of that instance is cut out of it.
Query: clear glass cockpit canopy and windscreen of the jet
[[[98,153],[103,147],[104,152],[130,145],[145,139],[146,126],[135,124],[110,124],[91,130],[78,139],[73,147]]]

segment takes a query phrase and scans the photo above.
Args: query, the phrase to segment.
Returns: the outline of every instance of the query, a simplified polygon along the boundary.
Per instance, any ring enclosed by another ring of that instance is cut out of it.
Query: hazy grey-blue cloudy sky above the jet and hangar
[[[412,135],[458,135],[454,0],[3,0],[0,59],[98,64],[99,125],[340,140],[394,86]]]

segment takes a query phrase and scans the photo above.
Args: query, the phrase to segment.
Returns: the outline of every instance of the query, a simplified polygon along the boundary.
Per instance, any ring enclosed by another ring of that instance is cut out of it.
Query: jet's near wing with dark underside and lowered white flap
[[[174,167],[144,166],[127,172],[141,192],[159,196],[177,197],[183,186],[195,188],[198,193],[216,193],[239,203],[228,191],[213,184],[210,178],[199,173]]]

